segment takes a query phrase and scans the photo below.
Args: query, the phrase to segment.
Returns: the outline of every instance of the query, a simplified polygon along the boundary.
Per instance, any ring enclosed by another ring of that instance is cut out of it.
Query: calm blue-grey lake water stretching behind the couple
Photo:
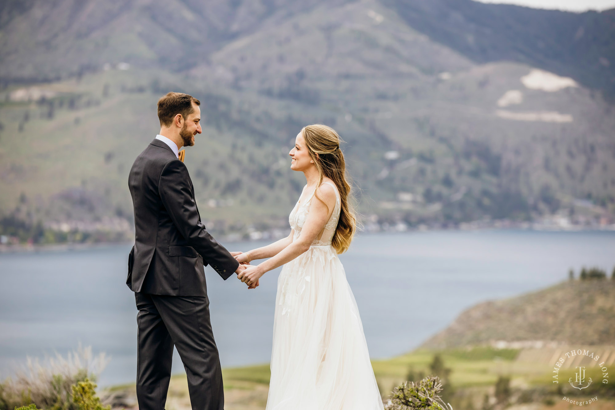
[[[264,243],[227,244],[248,251]],[[91,345],[111,361],[100,385],[131,382],[137,363],[134,295],[125,285],[129,245],[0,254],[0,377],[26,355]],[[464,308],[533,291],[582,266],[615,265],[615,232],[428,231],[363,235],[341,255],[370,355],[408,352]],[[248,291],[206,268],[223,367],[267,363],[279,269]],[[177,353],[173,371],[183,371]]]

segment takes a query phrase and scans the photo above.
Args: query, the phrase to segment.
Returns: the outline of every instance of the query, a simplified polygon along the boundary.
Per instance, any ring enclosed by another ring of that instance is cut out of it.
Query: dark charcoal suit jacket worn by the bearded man
[[[223,279],[239,263],[200,222],[188,169],[167,144],[154,139],[130,169],[135,246],[126,284],[134,292],[205,296],[204,265]]]

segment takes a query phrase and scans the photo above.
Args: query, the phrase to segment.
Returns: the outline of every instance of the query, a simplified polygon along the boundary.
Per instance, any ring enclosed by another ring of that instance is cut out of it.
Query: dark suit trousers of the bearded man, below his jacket
[[[222,371],[209,299],[135,292],[135,300],[139,409],[164,410],[175,345],[188,376],[192,410],[223,410]]]

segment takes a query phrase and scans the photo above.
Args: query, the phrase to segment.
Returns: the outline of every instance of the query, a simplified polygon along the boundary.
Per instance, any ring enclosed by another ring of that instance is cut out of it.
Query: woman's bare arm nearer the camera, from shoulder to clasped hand
[[[314,196],[312,204],[310,205],[308,218],[303,224],[299,238],[288,244],[288,246],[284,247],[284,249],[278,252],[277,255],[271,257],[271,259],[264,261],[260,265],[248,266],[246,270],[237,275],[237,278],[252,285],[256,283],[258,278],[263,276],[265,272],[280,267],[284,265],[284,263],[288,263],[303,254],[303,252],[308,251],[314,239],[316,239],[320,231],[322,231],[322,228],[325,227],[329,219],[329,211],[335,206],[335,188],[328,184],[323,184],[320,186],[319,192],[321,198],[323,198],[325,202],[320,201],[317,196]]]

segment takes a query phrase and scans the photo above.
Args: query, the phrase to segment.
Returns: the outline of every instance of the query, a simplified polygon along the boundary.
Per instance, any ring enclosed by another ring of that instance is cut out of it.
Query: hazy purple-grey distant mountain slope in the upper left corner
[[[319,2],[9,0],[0,6],[0,76],[46,81],[119,62],[183,71],[264,22]]]

